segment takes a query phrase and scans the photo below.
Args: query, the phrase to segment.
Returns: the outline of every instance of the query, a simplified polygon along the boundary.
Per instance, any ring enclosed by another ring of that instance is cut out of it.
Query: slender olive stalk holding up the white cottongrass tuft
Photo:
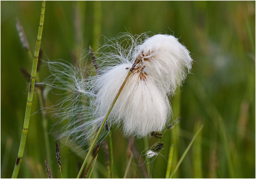
[[[113,106],[114,106],[114,104],[115,104],[117,98],[119,97],[121,91],[123,90],[126,81],[128,80],[129,76],[132,74],[132,71],[133,71],[134,67],[135,67],[135,66],[137,65],[137,63],[139,63],[140,61],[141,61],[140,58],[136,58],[136,59],[135,59],[135,62],[134,62],[134,64],[132,65],[132,68],[130,69],[130,71],[129,71],[129,73],[127,74],[127,76],[126,76],[126,78],[125,78],[123,84],[121,85],[121,87],[120,87],[118,93],[116,94],[114,101],[112,102],[112,104],[111,104],[111,106],[110,106],[108,112],[106,113],[106,116],[105,116],[104,120],[103,120],[102,123],[101,123],[101,126],[100,126],[100,128],[99,128],[97,134],[95,135],[95,138],[94,138],[94,140],[93,140],[93,142],[92,142],[92,144],[91,144],[91,147],[90,147],[90,149],[89,149],[89,151],[88,151],[88,153],[87,153],[86,158],[84,159],[84,162],[83,162],[83,164],[82,164],[82,166],[81,166],[81,169],[80,169],[80,171],[79,171],[79,173],[78,173],[78,175],[77,175],[77,178],[80,177],[80,175],[81,175],[81,173],[82,173],[82,171],[83,171],[83,168],[84,168],[84,166],[85,166],[85,164],[86,164],[86,162],[87,162],[87,160],[88,160],[88,158],[89,158],[89,156],[90,156],[90,154],[91,154],[91,152],[92,152],[92,149],[93,149],[93,147],[94,147],[94,145],[95,145],[95,143],[96,143],[96,141],[97,141],[97,139],[98,139],[98,137],[99,137],[99,135],[100,135],[100,132],[101,132],[102,128],[104,127],[104,125],[105,125],[105,123],[106,123],[106,120],[107,120],[107,118],[108,118],[108,116],[109,116],[109,114],[110,114],[110,112],[111,112],[111,110],[112,110],[112,108],[113,108]]]

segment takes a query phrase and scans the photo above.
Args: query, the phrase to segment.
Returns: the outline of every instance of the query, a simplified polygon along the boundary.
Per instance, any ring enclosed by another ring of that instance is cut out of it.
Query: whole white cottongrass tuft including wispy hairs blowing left
[[[60,137],[80,146],[88,143],[138,58],[140,63],[115,102],[108,125],[119,126],[125,137],[142,138],[152,131],[161,132],[172,114],[168,96],[177,91],[191,70],[192,59],[186,47],[172,35],[124,33],[105,38],[94,55],[100,75],[92,76],[79,65],[47,62],[52,75],[43,84],[66,94],[55,108],[59,123],[68,121],[59,131]]]

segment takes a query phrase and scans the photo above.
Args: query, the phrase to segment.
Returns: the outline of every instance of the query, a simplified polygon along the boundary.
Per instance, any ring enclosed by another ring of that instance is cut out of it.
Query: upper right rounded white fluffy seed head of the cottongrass
[[[144,54],[148,74],[166,93],[172,95],[192,68],[189,51],[172,35],[157,34],[136,47],[135,56]]]

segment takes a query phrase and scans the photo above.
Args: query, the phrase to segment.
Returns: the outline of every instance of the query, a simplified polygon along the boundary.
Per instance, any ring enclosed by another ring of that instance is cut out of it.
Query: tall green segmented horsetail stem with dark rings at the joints
[[[30,111],[31,111],[32,100],[33,100],[35,80],[36,80],[37,61],[38,61],[38,55],[39,55],[39,49],[40,49],[42,31],[43,31],[43,25],[44,25],[44,17],[45,17],[45,1],[42,2],[40,23],[39,23],[38,33],[37,33],[36,47],[35,47],[35,53],[34,53],[34,57],[33,57],[30,85],[29,85],[29,91],[28,91],[25,119],[24,119],[24,125],[23,125],[23,129],[22,129],[22,137],[20,140],[18,156],[17,156],[17,160],[16,160],[16,163],[14,166],[12,178],[17,178],[17,176],[18,176],[19,168],[20,168],[20,164],[22,161],[24,148],[25,148],[25,144],[26,144],[26,139],[27,139],[28,124],[29,124]]]

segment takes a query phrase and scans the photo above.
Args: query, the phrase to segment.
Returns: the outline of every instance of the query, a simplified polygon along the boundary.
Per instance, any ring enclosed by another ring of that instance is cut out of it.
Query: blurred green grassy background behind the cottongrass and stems
[[[20,72],[31,73],[32,63],[16,30],[20,20],[31,52],[37,37],[41,2],[1,1],[1,178],[11,177],[24,122],[28,84]],[[172,99],[174,118],[182,120],[163,137],[168,159],[175,144],[173,166],[194,136],[202,131],[181,163],[178,178],[255,177],[255,1],[49,1],[46,2],[41,49],[43,59],[64,59],[70,63],[92,45],[119,32],[168,33],[180,38],[194,59],[182,92]],[[49,75],[39,71],[42,80]],[[47,100],[54,104],[55,98]],[[37,95],[34,95],[28,136],[18,177],[47,177],[46,150]],[[48,116],[48,130],[56,120]],[[128,157],[127,139],[113,131],[114,172],[123,177]],[[151,138],[152,146],[156,142]],[[142,152],[144,139],[135,140]],[[50,135],[51,171],[60,177],[55,158],[55,140]],[[76,177],[84,158],[59,143],[63,177]],[[80,154],[83,155],[84,154]],[[99,151],[93,177],[104,174],[105,159]],[[143,159],[144,160],[144,159]],[[136,161],[133,159],[133,163]],[[79,164],[80,163],[80,164]],[[165,177],[167,162],[158,156],[152,177]],[[100,168],[101,167],[101,168]],[[104,169],[102,169],[104,168]],[[102,171],[102,172],[100,172]],[[131,164],[127,177],[144,177],[140,167]]]

